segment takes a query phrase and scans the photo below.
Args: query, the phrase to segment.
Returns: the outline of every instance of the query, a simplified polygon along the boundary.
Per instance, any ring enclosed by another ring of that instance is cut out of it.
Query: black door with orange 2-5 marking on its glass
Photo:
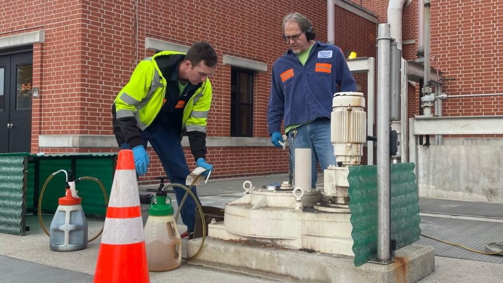
[[[0,153],[30,152],[33,53],[0,55]]]

